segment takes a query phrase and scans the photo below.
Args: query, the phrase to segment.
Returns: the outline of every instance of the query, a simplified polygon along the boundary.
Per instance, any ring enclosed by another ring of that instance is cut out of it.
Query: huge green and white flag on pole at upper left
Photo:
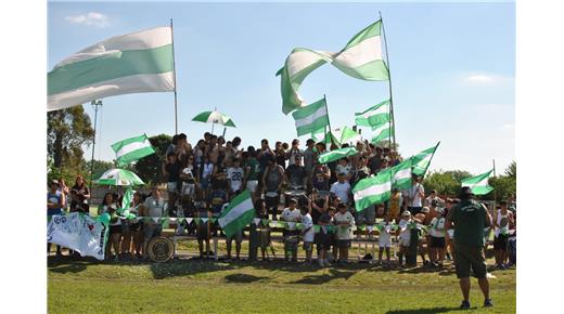
[[[47,75],[48,110],[108,96],[175,90],[172,35],[157,27],[95,43]]]

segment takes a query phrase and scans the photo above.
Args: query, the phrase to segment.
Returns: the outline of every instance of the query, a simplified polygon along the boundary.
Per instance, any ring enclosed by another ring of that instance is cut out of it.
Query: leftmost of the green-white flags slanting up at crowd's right
[[[360,180],[352,188],[357,211],[388,200],[392,194],[392,180],[393,172],[389,169],[380,171],[376,176]]]

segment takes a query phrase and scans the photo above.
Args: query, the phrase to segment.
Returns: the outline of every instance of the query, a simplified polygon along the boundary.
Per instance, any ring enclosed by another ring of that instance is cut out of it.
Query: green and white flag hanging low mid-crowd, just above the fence
[[[241,231],[255,218],[255,208],[251,193],[245,189],[231,200],[217,220],[228,237]]]

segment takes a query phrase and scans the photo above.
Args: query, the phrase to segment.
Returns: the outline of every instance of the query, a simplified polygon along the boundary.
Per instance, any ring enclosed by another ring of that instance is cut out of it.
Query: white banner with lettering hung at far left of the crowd
[[[93,218],[72,212],[55,214],[47,226],[47,241],[73,249],[82,257],[104,260],[107,226]]]

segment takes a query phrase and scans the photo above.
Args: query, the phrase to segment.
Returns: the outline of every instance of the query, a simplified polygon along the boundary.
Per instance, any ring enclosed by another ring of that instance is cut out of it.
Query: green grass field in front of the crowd
[[[430,271],[351,263],[319,269],[283,262],[174,260],[48,262],[49,313],[449,313],[461,301],[450,266]],[[472,279],[473,313],[514,313],[516,271],[493,271],[495,306],[482,308]]]

